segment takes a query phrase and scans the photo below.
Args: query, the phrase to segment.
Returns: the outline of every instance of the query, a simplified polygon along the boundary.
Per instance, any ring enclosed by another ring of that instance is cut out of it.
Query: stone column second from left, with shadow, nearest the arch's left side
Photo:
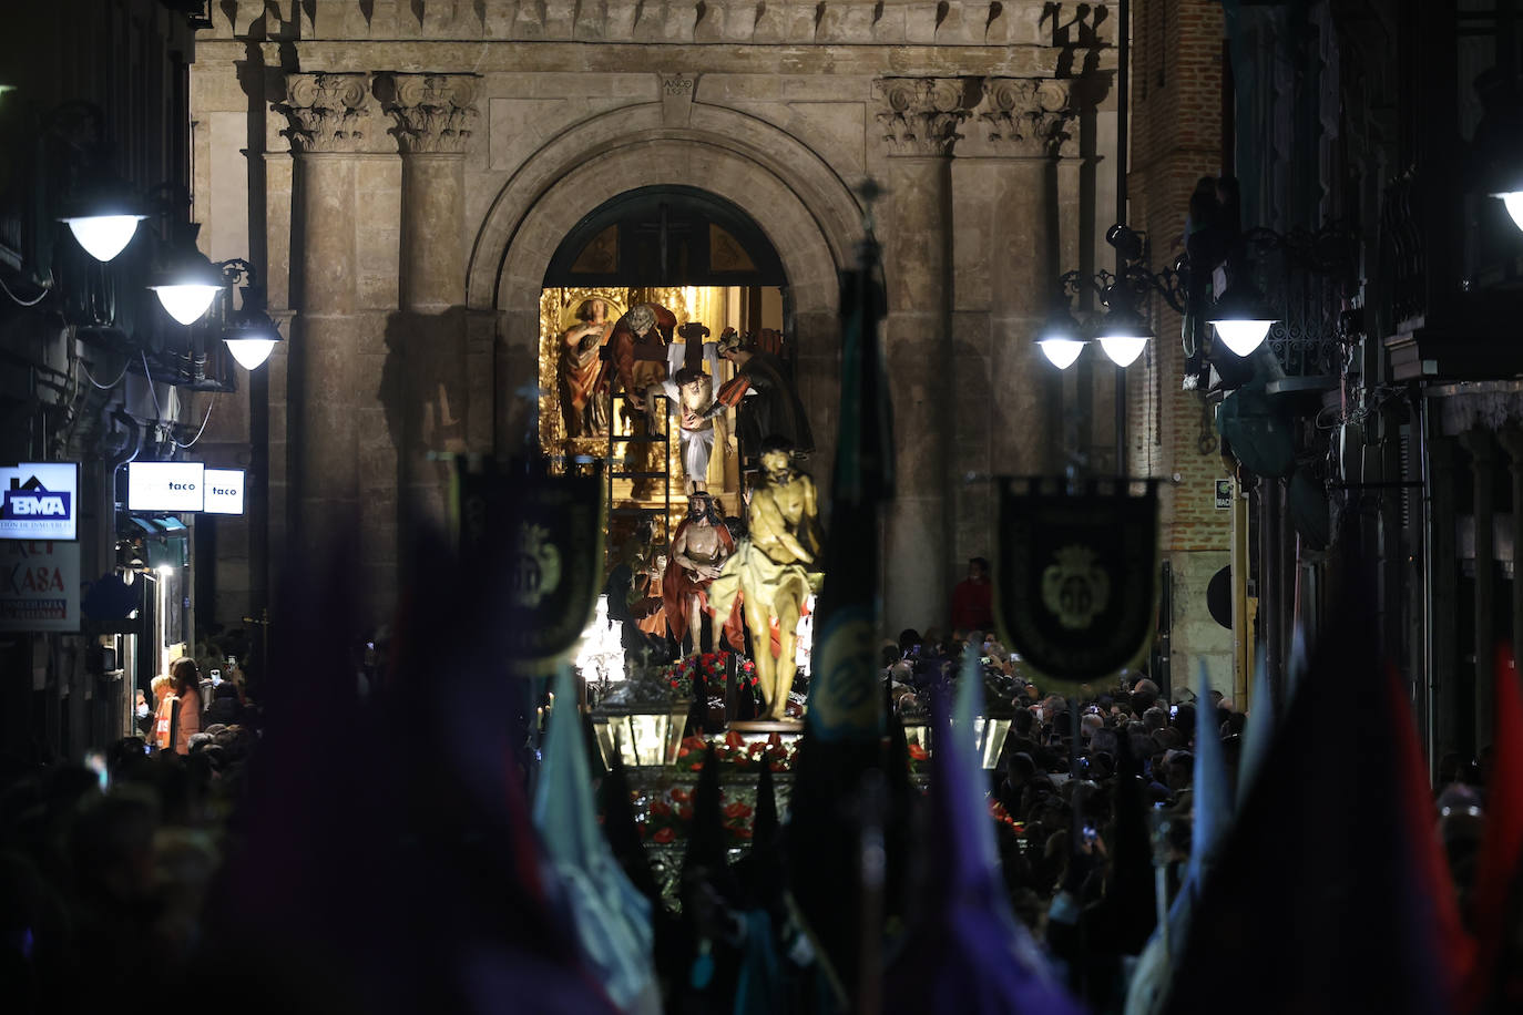
[[[401,353],[405,370],[399,533],[448,522],[449,466],[466,450],[465,152],[471,75],[381,75],[376,96],[402,152]],[[429,457],[434,453],[434,457]]]

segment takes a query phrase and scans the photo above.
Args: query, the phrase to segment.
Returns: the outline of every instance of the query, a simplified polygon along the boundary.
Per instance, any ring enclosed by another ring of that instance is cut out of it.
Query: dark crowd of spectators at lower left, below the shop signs
[[[6,758],[6,1010],[148,1010],[155,989],[193,980],[207,962],[206,899],[259,740],[257,709],[236,683],[209,691],[203,706],[196,663],[180,659],[152,682],[145,735],[84,764]]]

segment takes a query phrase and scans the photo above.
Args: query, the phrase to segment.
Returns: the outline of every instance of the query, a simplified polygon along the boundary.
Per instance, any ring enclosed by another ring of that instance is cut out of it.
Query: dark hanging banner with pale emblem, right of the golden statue
[[[1157,627],[1157,552],[1153,481],[1004,479],[1001,635],[1048,682],[1071,685],[1060,692],[1135,667]]]

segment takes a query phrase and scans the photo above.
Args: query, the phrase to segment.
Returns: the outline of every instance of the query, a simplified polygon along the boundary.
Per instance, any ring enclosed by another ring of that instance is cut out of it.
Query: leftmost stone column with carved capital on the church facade
[[[327,560],[356,545],[359,517],[355,154],[370,132],[367,75],[286,75],[291,119],[292,320],[288,548]]]

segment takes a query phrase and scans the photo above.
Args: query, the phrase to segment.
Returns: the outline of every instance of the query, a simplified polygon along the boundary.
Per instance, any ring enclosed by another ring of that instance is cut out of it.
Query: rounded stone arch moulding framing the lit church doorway
[[[746,212],[783,262],[800,393],[819,449],[810,472],[822,478],[838,425],[836,272],[860,234],[856,201],[815,152],[771,125],[705,105],[693,105],[684,125],[670,119],[667,107],[649,103],[573,128],[536,152],[487,212],[466,300],[493,324],[495,446],[516,450],[525,432],[528,403],[513,393],[536,379],[539,289],[560,240],[609,198],[678,184]]]

